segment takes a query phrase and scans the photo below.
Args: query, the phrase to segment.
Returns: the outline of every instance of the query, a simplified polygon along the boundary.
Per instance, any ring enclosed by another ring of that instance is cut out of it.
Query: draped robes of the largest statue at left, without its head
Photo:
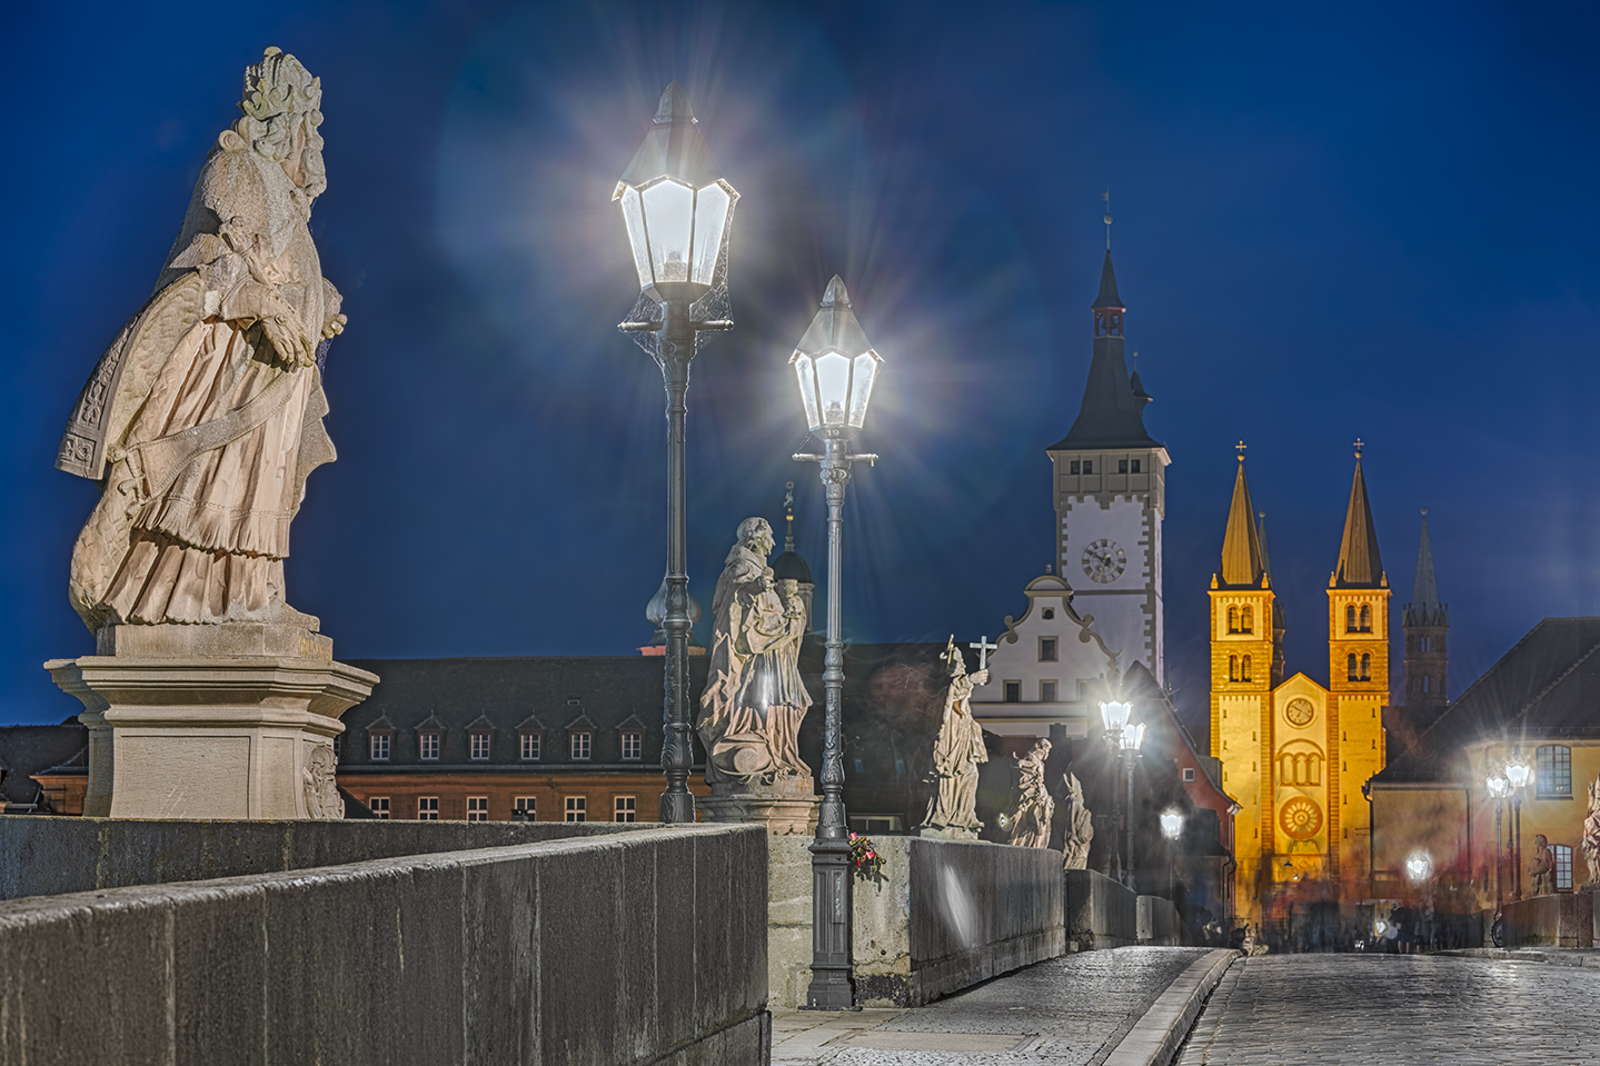
[[[259,320],[314,346],[339,311],[283,168],[221,149],[195,186],[150,301],[101,359],[58,466],[102,479],[70,595],[106,623],[267,619],[283,602],[306,475],[334,458],[320,371]]]

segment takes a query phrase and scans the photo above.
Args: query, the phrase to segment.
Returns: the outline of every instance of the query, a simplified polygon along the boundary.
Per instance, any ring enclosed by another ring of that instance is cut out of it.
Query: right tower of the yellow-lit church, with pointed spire
[[[1362,784],[1384,768],[1386,757],[1389,575],[1378,554],[1360,440],[1339,563],[1328,578],[1328,836],[1336,860],[1330,874],[1363,877],[1370,823]]]

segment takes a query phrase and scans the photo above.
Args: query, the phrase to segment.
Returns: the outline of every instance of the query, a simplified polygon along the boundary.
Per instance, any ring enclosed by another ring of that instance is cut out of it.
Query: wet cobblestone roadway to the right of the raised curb
[[[1178,1066],[1600,1063],[1600,972],[1437,956],[1261,956],[1229,967]]]

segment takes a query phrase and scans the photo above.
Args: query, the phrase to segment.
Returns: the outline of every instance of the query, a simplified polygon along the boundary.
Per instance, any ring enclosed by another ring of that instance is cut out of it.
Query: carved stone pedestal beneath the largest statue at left
[[[45,669],[83,703],[99,818],[314,818],[310,755],[378,683],[296,626],[107,626],[96,650]]]

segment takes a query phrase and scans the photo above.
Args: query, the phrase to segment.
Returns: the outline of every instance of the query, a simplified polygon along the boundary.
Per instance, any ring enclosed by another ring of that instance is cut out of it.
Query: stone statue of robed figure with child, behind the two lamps
[[[811,794],[800,762],[800,720],[811,696],[800,679],[805,600],[795,581],[773,583],[766,519],[739,523],[712,599],[710,677],[698,723],[706,781],[725,789],[778,786]]]

